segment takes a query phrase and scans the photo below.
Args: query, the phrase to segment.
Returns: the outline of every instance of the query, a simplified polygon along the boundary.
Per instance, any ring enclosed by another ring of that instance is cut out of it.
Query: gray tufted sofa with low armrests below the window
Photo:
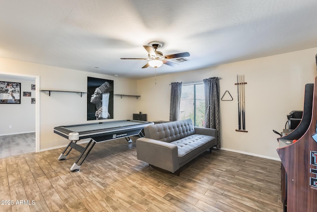
[[[174,173],[216,145],[217,131],[194,127],[192,120],[149,125],[145,137],[137,139],[137,158]]]

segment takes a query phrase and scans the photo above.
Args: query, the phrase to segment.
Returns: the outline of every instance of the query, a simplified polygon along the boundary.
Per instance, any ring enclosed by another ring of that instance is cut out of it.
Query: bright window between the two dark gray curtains
[[[205,126],[205,88],[203,83],[182,85],[179,118],[192,119],[195,127]]]

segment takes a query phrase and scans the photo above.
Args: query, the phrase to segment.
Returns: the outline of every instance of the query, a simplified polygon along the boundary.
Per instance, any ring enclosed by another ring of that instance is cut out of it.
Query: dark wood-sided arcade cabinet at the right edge
[[[277,149],[282,161],[281,190],[287,212],[317,211],[316,79],[311,94],[305,88],[302,122],[292,133],[278,139],[280,143],[288,142]]]

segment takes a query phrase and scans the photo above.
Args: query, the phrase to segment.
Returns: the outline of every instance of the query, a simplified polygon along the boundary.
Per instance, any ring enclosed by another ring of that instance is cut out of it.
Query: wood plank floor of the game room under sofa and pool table
[[[118,139],[97,143],[81,171],[71,173],[79,153],[58,161],[62,150],[0,159],[0,200],[12,203],[0,211],[283,211],[278,161],[206,151],[177,176],[137,160],[135,142]]]

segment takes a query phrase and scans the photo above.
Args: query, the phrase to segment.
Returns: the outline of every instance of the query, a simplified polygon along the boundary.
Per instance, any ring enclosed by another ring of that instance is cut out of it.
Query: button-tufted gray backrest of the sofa
[[[176,141],[195,134],[191,119],[149,125],[144,131],[146,138],[164,142]]]

